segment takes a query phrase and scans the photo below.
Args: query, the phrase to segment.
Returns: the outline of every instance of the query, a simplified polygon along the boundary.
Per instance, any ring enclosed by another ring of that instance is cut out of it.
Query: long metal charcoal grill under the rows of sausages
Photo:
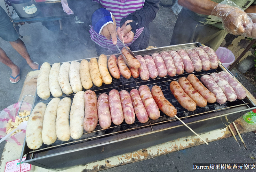
[[[199,47],[200,45],[200,43],[181,44],[135,51],[134,54],[144,56],[168,50],[190,49]],[[119,55],[116,54],[117,57]],[[80,62],[81,60],[78,61]],[[217,69],[211,69],[209,71],[202,70],[193,72],[193,74],[200,79],[204,74],[224,71],[223,67],[220,64]],[[197,106],[195,111],[184,109],[171,94],[169,85],[173,80],[178,80],[188,75],[189,73],[184,72],[182,75],[175,75],[174,77],[166,76],[164,78],[157,77],[148,81],[143,81],[140,78],[134,79],[133,77],[125,79],[121,76],[120,79],[113,78],[112,83],[109,85],[103,84],[101,87],[93,86],[91,90],[95,91],[98,97],[102,93],[108,94],[112,89],[118,91],[127,90],[130,92],[134,88],[139,89],[140,85],[148,85],[150,89],[154,85],[158,85],[162,89],[164,97],[178,110],[177,116],[196,133],[206,133],[225,128],[246,112],[255,109],[255,104],[249,97],[246,97],[244,100],[237,99],[234,102],[226,102],[221,105],[217,102],[213,104],[208,103],[206,107]],[[60,98],[70,97],[73,99],[74,95],[63,95]],[[36,94],[32,107],[34,108],[38,102],[48,104],[52,98],[51,96],[43,100]],[[149,119],[144,124],[140,123],[137,118],[132,125],[128,125],[125,122],[121,125],[114,125],[112,123],[106,130],[103,130],[98,124],[94,131],[84,131],[83,136],[78,140],[72,138],[67,142],[56,140],[52,145],[43,144],[37,150],[29,149],[26,141],[24,141],[21,157],[27,154],[24,162],[53,171],[61,171],[189,135],[192,135],[192,132],[187,127],[182,125],[175,117],[168,117],[161,111],[158,119]]]

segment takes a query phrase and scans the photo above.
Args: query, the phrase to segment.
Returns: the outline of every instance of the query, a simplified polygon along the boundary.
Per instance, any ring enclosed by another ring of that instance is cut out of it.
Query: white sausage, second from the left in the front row
[[[48,103],[44,113],[42,140],[46,145],[51,145],[57,139],[55,123],[56,123],[57,109],[58,109],[59,103],[60,103],[60,98],[57,98],[57,97],[53,98]]]

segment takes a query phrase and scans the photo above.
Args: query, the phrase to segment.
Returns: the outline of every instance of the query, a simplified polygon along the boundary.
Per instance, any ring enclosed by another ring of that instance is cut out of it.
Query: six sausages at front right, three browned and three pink
[[[224,104],[246,97],[243,86],[227,72],[203,75],[199,79],[194,74],[182,77],[179,81],[172,81],[170,89],[180,105],[189,111],[196,110],[196,106],[204,107],[208,103]],[[204,85],[208,88],[205,88]]]

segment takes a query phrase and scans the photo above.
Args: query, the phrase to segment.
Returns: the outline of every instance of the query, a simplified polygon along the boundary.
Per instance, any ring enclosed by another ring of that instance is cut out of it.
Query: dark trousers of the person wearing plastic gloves
[[[216,51],[227,33],[225,30],[197,22],[182,8],[174,26],[170,45],[200,42]]]

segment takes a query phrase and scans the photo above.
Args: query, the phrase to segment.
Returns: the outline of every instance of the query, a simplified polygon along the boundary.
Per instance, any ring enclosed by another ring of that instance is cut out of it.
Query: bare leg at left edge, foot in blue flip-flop
[[[20,73],[20,68],[15,65],[11,59],[9,59],[9,57],[6,55],[6,53],[4,52],[4,50],[0,47],[0,61],[2,63],[4,63],[5,65],[7,65],[9,68],[12,69],[12,76],[16,77],[19,73]],[[10,77],[10,80],[12,82],[17,82],[20,79],[20,76],[18,76],[15,81],[13,78]]]

